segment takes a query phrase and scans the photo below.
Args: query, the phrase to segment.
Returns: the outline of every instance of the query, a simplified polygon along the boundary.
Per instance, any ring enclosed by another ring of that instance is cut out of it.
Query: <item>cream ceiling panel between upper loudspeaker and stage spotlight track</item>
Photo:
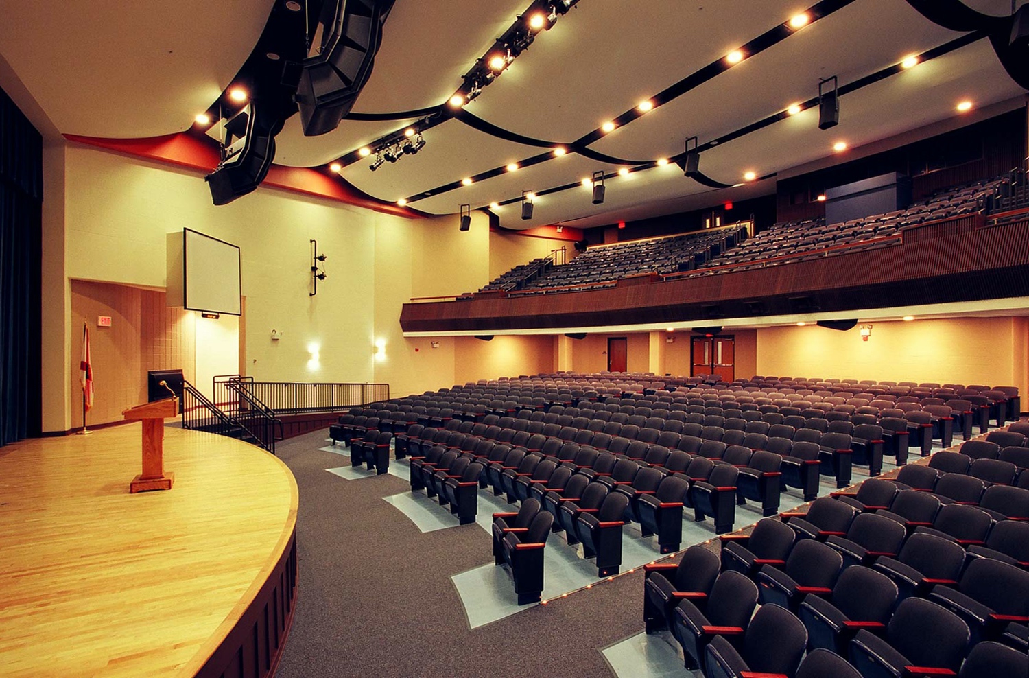
[[[528,0],[397,2],[354,111],[409,111],[446,102],[461,85],[461,76],[527,5]],[[339,156],[352,148],[335,150]]]

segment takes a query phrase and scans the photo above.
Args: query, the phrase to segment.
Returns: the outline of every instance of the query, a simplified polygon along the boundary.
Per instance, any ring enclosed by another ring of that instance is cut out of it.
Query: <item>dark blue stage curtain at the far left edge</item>
[[[41,429],[42,148],[0,91],[0,444]]]

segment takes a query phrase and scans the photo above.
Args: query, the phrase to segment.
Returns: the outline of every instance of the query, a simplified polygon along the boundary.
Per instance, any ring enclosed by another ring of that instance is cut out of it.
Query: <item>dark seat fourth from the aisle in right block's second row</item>
[[[864,629],[857,632],[850,643],[850,662],[864,678],[956,675],[968,641],[967,625],[953,612],[909,598],[897,606],[883,637]],[[920,672],[922,667],[947,673]]]

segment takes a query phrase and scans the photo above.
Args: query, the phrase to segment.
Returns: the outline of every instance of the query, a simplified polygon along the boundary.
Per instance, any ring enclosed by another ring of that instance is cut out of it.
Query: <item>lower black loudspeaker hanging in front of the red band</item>
[[[227,205],[255,189],[275,159],[275,135],[283,120],[273,109],[250,102],[225,122],[221,163],[204,177],[215,205]]]

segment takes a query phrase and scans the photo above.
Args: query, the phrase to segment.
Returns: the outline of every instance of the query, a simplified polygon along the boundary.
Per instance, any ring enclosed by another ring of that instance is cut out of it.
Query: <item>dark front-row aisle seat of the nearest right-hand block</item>
[[[681,600],[702,607],[718,576],[718,557],[703,544],[690,546],[677,564],[643,566],[643,623],[646,633],[668,628],[672,610]]]

